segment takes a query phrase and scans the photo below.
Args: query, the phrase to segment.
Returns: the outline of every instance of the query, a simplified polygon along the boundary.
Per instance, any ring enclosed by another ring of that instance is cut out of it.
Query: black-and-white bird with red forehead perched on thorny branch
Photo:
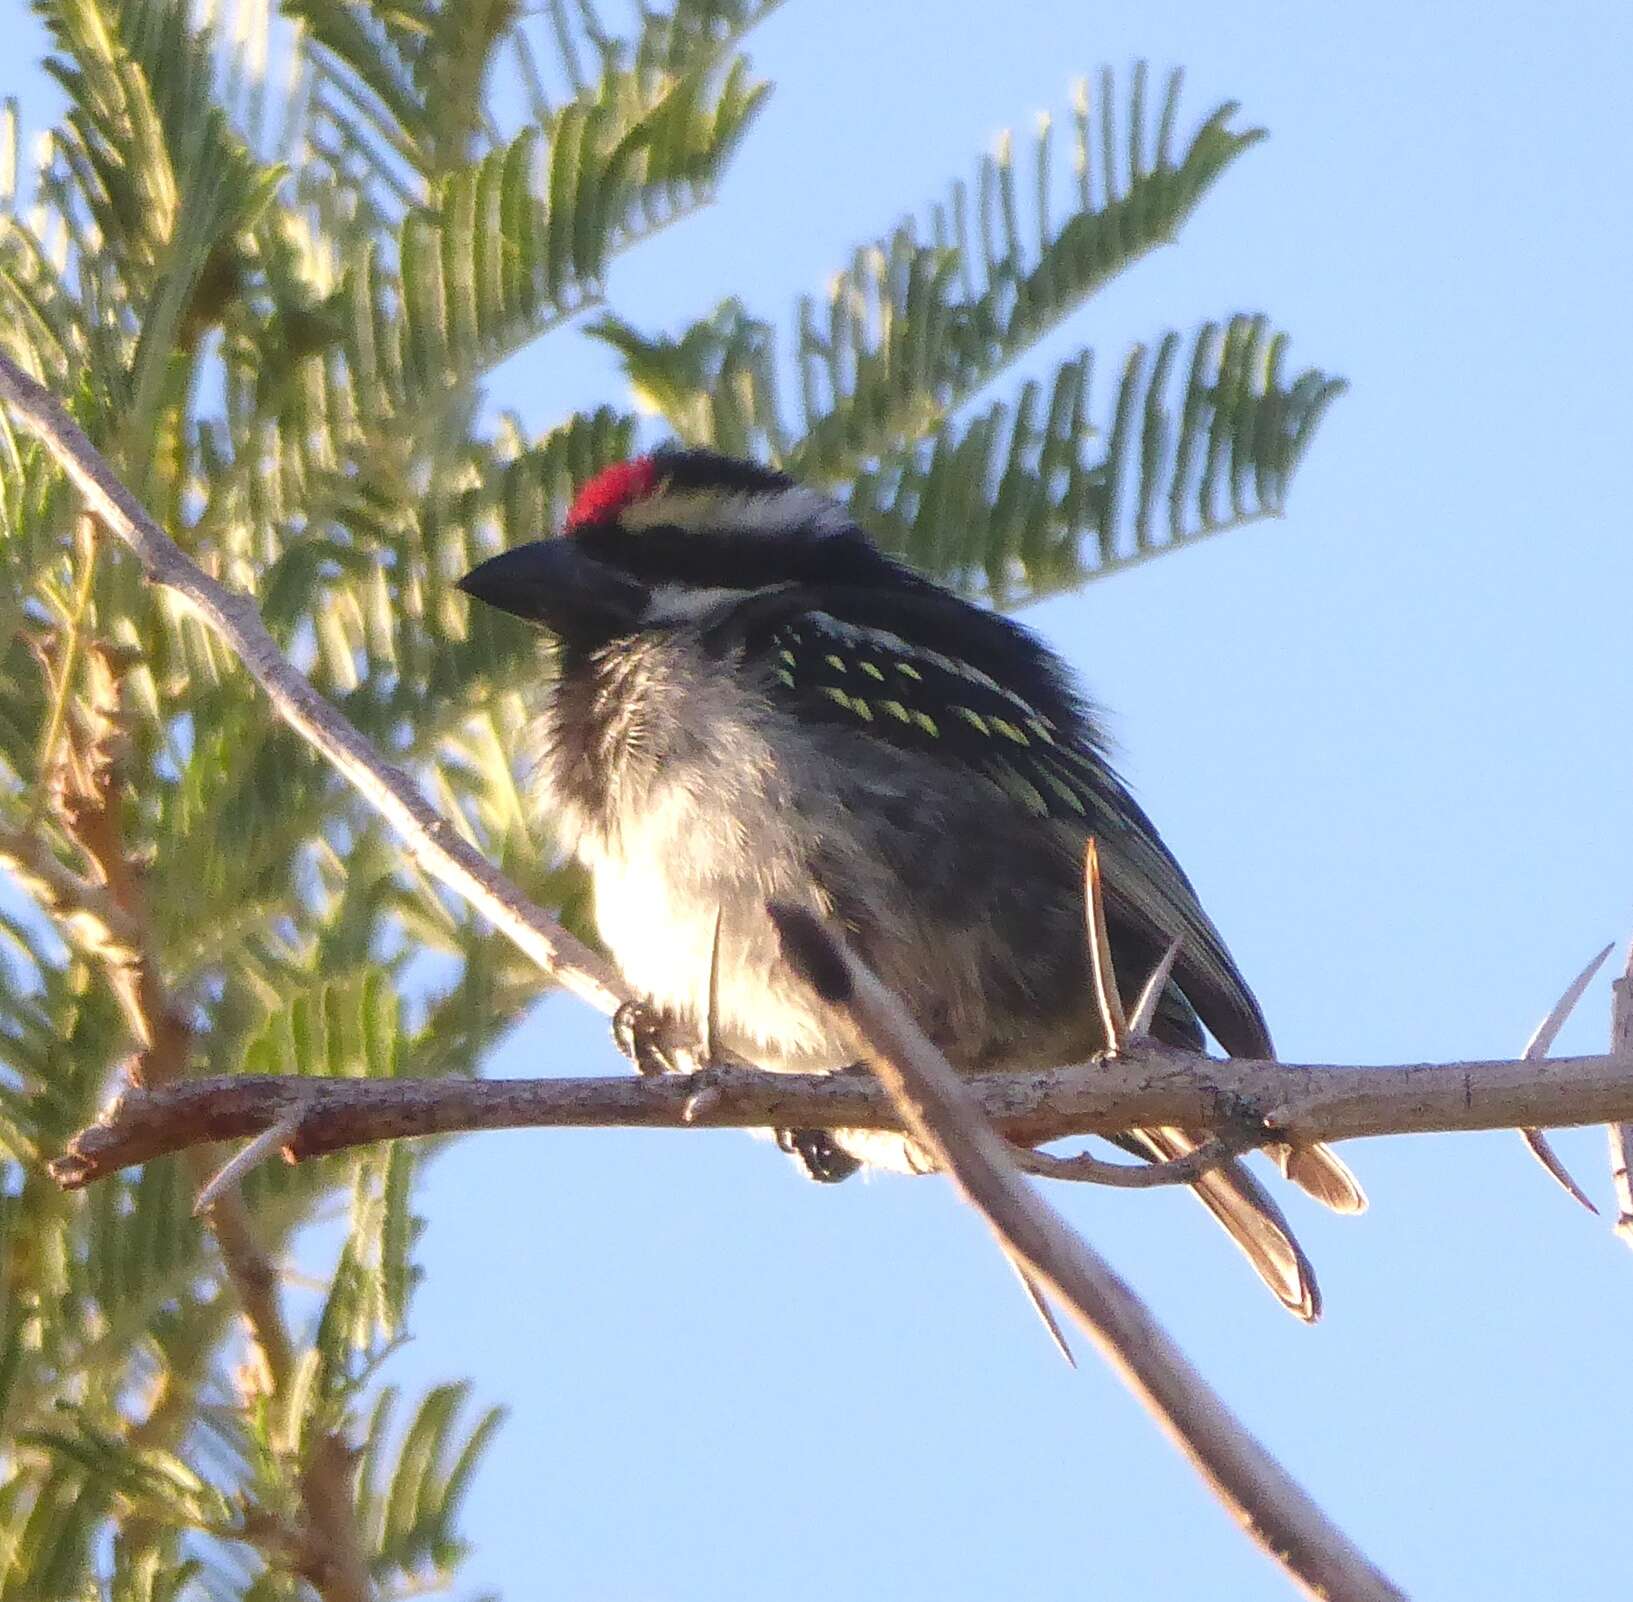
[[[590,869],[625,980],[701,1026],[712,957],[720,1045],[764,1068],[834,1071],[862,1045],[784,965],[771,901],[833,918],[967,1073],[1081,1061],[1106,1040],[1084,924],[1099,846],[1119,983],[1182,941],[1156,1039],[1272,1055],[1259,1006],[1190,880],[1107,761],[1065,663],[1035,635],[885,555],[838,503],[707,451],[606,469],[562,537],[464,580],[547,629],[541,799]],[[719,942],[719,946],[717,946]],[[903,1137],[794,1132],[813,1177],[901,1166]],[[1140,1130],[1148,1158],[1189,1151]],[[1292,1179],[1364,1204],[1324,1146]],[[1241,1163],[1197,1194],[1300,1318],[1319,1292]]]

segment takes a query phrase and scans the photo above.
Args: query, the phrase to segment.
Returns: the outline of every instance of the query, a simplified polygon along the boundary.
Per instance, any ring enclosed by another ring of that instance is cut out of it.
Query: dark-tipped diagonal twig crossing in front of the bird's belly
[[[1040,1288],[1122,1375],[1238,1522],[1311,1597],[1404,1602],[1179,1352],[1127,1284],[1042,1200],[967,1081],[810,913],[777,908],[784,955],[854,1027],[903,1122]]]

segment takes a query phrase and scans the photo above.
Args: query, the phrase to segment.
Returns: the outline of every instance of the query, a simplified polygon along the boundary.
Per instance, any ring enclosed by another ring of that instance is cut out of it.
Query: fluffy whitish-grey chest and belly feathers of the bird
[[[854,1042],[785,973],[764,916],[769,900],[833,911],[808,861],[831,802],[782,722],[753,676],[699,647],[622,642],[563,665],[539,799],[591,872],[596,926],[630,985],[699,1019],[719,918],[725,1044],[772,1068],[838,1068]]]

